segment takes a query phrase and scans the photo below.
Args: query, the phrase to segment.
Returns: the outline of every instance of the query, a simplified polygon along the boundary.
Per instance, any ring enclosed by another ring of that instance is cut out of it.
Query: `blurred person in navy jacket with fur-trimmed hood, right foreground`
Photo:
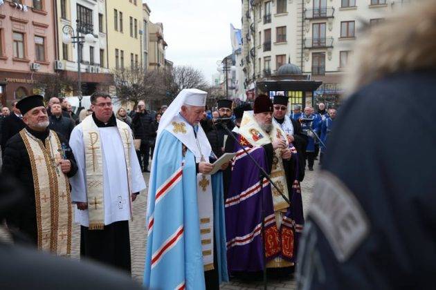
[[[436,1],[370,33],[316,182],[300,289],[436,289],[436,126],[422,113],[435,99]]]

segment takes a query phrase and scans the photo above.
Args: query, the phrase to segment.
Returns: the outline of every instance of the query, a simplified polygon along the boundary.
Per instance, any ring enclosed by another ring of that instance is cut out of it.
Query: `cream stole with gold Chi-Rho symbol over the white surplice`
[[[103,190],[103,156],[100,131],[94,122],[92,116],[86,117],[82,121],[85,167],[87,177],[87,198],[88,198],[88,215],[89,229],[104,229],[105,227],[105,199]],[[125,122],[116,120],[116,125],[122,140],[124,148],[125,165],[127,168],[127,186],[129,195],[131,194],[131,166],[130,166],[130,149],[131,144],[129,126]],[[130,215],[131,198],[129,197]]]

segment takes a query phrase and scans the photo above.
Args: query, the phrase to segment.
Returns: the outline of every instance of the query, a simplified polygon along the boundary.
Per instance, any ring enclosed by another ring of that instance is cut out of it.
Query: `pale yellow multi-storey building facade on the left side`
[[[109,69],[142,66],[143,4],[140,0],[107,1]]]

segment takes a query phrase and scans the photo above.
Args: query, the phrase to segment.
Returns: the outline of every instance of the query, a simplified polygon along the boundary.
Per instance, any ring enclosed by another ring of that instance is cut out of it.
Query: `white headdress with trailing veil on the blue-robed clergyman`
[[[161,117],[161,122],[159,122],[158,133],[156,136],[156,144],[158,142],[159,136],[162,131],[171,123],[172,119],[179,115],[181,106],[206,106],[206,97],[208,93],[197,88],[184,88],[181,90],[179,95],[171,102],[165,113]]]

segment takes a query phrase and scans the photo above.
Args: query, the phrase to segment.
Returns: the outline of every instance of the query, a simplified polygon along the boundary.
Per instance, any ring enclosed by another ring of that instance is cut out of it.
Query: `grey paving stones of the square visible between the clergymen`
[[[316,162],[318,163],[318,162]],[[305,180],[302,182],[302,201],[303,209],[307,210],[309,206],[312,192],[314,189],[314,180],[318,172],[317,164],[315,171],[306,171]],[[148,186],[149,173],[145,173],[145,182]],[[134,205],[134,220],[130,222],[130,243],[131,243],[131,275],[134,280],[142,283],[144,273],[144,259],[145,259],[145,244],[147,242],[147,230],[145,228],[145,211],[147,209],[147,192],[143,191],[138,195],[138,198],[133,203]],[[10,237],[0,228],[0,241],[10,241]],[[80,226],[73,224],[73,240],[71,247],[71,257],[79,259],[80,254]],[[233,279],[228,283],[224,283],[221,289],[263,289],[262,281],[242,281]],[[281,290],[281,289],[296,289],[296,282],[293,278],[288,280],[271,280],[268,283],[268,289]]]

